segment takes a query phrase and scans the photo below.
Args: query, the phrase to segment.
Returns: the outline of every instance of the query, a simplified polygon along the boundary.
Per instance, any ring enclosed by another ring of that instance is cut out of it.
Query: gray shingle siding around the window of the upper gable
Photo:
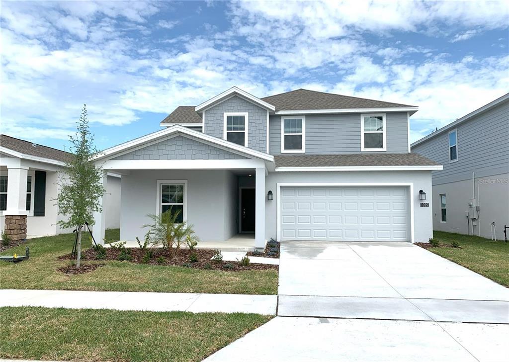
[[[247,112],[247,146],[253,150],[267,152],[267,110],[240,97],[229,98],[205,111],[205,133],[223,138],[224,113]]]

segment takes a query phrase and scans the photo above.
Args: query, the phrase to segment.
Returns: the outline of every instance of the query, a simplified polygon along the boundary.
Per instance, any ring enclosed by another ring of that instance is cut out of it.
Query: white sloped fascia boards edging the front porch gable
[[[116,155],[122,151],[126,151],[131,148],[143,145],[145,143],[157,140],[158,138],[170,136],[174,133],[185,134],[185,135],[191,136],[192,138],[196,138],[197,140],[202,140],[209,144],[217,145],[217,146],[222,147],[226,150],[236,151],[236,152],[240,152],[242,154],[248,155],[248,156],[257,157],[257,158],[261,158],[261,159],[264,159],[267,161],[274,162],[274,156],[269,155],[267,153],[256,151],[256,150],[253,150],[253,149],[250,149],[250,148],[247,148],[244,146],[240,146],[240,145],[237,145],[232,142],[225,141],[225,140],[221,140],[221,138],[213,137],[213,136],[210,136],[203,132],[198,132],[198,131],[195,131],[195,130],[192,130],[192,129],[189,129],[187,127],[183,127],[180,125],[167,127],[166,129],[162,129],[160,131],[150,133],[150,134],[147,134],[147,135],[139,137],[139,138],[135,138],[134,140],[123,143],[121,145],[108,148],[108,149],[104,150],[101,155],[98,155],[96,157],[96,160],[110,157],[112,155]],[[189,160],[187,160],[187,161],[189,161]]]

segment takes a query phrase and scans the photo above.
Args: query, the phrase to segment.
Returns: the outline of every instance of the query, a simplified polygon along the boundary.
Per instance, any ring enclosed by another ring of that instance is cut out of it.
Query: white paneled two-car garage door
[[[284,186],[282,240],[410,241],[408,187]]]

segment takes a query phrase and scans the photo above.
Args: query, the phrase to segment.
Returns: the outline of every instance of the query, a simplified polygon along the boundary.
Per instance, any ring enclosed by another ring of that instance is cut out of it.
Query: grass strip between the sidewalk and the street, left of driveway
[[[0,309],[0,358],[200,361],[272,317],[242,313]]]

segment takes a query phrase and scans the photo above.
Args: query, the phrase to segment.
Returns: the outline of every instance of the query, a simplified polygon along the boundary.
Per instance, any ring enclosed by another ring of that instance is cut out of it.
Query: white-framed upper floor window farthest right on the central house
[[[360,150],[386,151],[385,114],[360,116]]]

